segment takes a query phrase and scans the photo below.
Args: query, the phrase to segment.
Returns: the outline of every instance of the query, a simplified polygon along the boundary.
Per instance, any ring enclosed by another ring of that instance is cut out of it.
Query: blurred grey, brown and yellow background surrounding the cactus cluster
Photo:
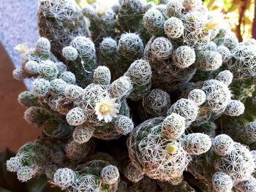
[[[102,9],[108,9],[118,0],[97,0]],[[158,0],[148,0],[157,3]],[[210,11],[222,12],[229,20],[239,41],[256,37],[256,0],[205,0]],[[80,7],[95,0],[77,0]],[[31,47],[38,38],[38,0],[1,0],[0,5],[0,151],[9,147],[17,151],[23,143],[39,136],[39,129],[23,120],[24,108],[18,104],[20,91],[29,88],[29,82],[12,79],[12,70],[20,64],[20,56],[13,49],[16,45],[29,42]]]

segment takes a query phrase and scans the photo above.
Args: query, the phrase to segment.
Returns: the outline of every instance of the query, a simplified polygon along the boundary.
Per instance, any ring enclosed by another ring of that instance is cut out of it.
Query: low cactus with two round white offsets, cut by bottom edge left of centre
[[[116,191],[119,172],[108,161],[94,160],[80,164],[75,170],[58,169],[53,182],[69,191]]]

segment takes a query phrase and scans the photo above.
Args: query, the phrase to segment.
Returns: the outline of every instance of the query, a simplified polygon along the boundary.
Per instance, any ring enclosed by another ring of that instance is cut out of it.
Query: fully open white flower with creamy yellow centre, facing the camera
[[[99,120],[104,119],[106,123],[110,122],[112,118],[117,117],[117,110],[119,104],[115,103],[116,99],[110,99],[109,96],[102,98],[95,106],[95,113]]]

